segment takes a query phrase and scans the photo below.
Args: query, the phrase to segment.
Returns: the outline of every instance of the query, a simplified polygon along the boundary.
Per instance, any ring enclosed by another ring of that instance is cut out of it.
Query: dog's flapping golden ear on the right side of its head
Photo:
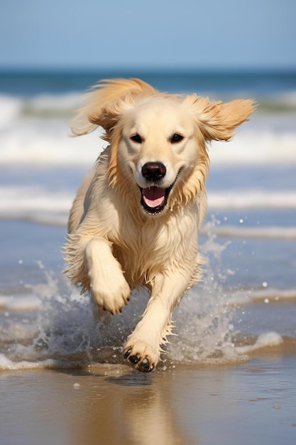
[[[207,141],[228,141],[239,127],[253,113],[256,105],[253,100],[233,100],[231,102],[210,102],[208,97],[187,96],[184,104],[193,107],[199,130]]]

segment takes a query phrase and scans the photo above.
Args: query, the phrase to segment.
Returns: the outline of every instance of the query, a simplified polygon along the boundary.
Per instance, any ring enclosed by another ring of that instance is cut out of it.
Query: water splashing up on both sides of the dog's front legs
[[[164,366],[174,363],[224,363],[240,360],[231,343],[232,309],[224,293],[223,284],[229,271],[223,270],[222,256],[229,242],[216,241],[214,218],[205,225],[207,238],[201,247],[207,258],[203,282],[194,286],[175,312],[175,333],[170,338]],[[93,363],[124,363],[121,348],[126,337],[143,313],[148,293],[134,292],[130,304],[120,316],[111,316],[92,307],[89,296],[80,296],[65,277],[48,272],[38,263],[45,283],[29,289],[35,309],[27,311],[9,299],[2,299],[3,311],[0,330],[0,354],[20,367],[75,368]],[[27,289],[28,290],[28,289]],[[28,296],[27,296],[28,298]],[[31,303],[32,303],[31,301]],[[38,303],[38,304],[37,304]],[[4,363],[5,362],[5,363]],[[5,365],[6,364],[6,365]],[[0,360],[1,367],[1,360]]]

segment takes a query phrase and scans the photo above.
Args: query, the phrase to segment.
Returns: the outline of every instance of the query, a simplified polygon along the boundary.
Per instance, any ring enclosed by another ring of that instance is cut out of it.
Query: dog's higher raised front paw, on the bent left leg
[[[123,274],[116,274],[116,277],[110,279],[109,282],[92,284],[91,291],[95,303],[112,314],[121,313],[121,309],[128,304],[131,295],[131,289]]]

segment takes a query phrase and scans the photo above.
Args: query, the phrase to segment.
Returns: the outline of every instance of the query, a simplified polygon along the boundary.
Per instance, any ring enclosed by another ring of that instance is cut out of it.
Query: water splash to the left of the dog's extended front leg
[[[81,368],[123,361],[122,345],[148,294],[133,295],[122,316],[113,317],[95,309],[89,295],[80,295],[62,274],[47,271],[41,262],[38,267],[45,283],[27,287],[27,308],[21,296],[13,304],[11,296],[1,297],[0,368],[16,369],[17,363],[22,369],[37,363],[40,368]]]

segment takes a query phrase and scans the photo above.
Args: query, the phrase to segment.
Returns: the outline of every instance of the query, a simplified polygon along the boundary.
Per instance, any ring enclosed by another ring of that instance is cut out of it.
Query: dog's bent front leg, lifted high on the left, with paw
[[[112,254],[111,246],[106,240],[89,240],[85,248],[85,260],[94,301],[102,309],[120,313],[124,304],[128,304],[131,289],[121,265]]]

